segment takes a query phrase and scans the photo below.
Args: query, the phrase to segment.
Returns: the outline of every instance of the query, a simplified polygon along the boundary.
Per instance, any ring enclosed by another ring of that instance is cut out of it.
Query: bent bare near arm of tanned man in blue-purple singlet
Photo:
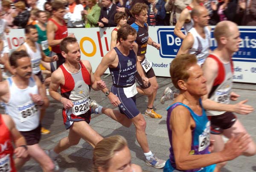
[[[225,149],[221,152],[204,155],[191,155],[192,121],[193,120],[189,110],[187,110],[185,107],[177,106],[174,110],[172,110],[169,124],[170,128],[172,129],[172,149],[174,151],[177,169],[187,170],[201,168],[231,160],[235,158],[235,155],[241,155],[240,152],[233,155],[233,152],[230,151],[231,147],[231,150],[233,150],[234,148],[238,149],[239,146],[232,144],[230,144],[229,149],[225,147]],[[246,143],[239,140],[239,144],[241,145]]]

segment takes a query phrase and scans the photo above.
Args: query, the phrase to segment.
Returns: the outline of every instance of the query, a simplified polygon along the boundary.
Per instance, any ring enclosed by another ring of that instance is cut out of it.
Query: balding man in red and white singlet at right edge
[[[214,36],[218,47],[209,55],[203,65],[204,76],[207,80],[207,97],[215,102],[221,103],[220,107],[229,106],[228,110],[221,109],[221,112],[208,111],[207,115],[211,121],[211,139],[215,140],[213,152],[222,151],[224,141],[222,134],[227,138],[237,136],[238,133],[244,133],[249,136],[244,126],[233,112],[248,114],[253,111],[253,107],[244,103],[247,100],[236,104],[228,104],[230,100],[236,101],[239,95],[231,92],[232,88],[232,56],[239,50],[241,43],[240,33],[237,25],[230,21],[218,23],[214,30]],[[214,104],[213,102],[212,104]],[[256,154],[256,144],[252,138],[247,141],[248,147],[241,155],[252,156]],[[240,147],[239,147],[240,148]],[[226,164],[216,165],[216,171]]]

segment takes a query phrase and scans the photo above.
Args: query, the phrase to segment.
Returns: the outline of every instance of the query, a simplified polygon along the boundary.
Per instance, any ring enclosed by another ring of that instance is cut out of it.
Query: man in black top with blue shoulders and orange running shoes
[[[154,42],[151,37],[148,36],[148,6],[145,3],[137,3],[131,9],[131,13],[135,17],[135,23],[131,24],[131,27],[137,31],[136,43],[138,44],[137,58],[140,61],[145,76],[148,77],[150,84],[143,85],[140,75],[136,74],[136,80],[139,86],[137,90],[140,94],[148,96],[148,107],[145,110],[145,116],[148,118],[162,118],[160,114],[157,114],[153,110],[154,99],[157,95],[157,78],[152,68],[152,63],[145,57],[147,51],[147,45],[152,45],[154,48],[160,49],[160,44]]]

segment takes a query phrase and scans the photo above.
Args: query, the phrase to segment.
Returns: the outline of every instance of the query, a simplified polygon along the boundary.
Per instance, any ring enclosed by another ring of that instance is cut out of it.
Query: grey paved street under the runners
[[[110,88],[112,84],[111,76],[104,78],[108,87]],[[159,84],[159,90],[157,92],[157,99],[154,106],[157,108],[157,113],[160,113],[163,118],[153,119],[145,118],[147,122],[146,133],[148,137],[148,144],[151,151],[158,157],[164,160],[169,158],[169,139],[166,130],[166,108],[171,102],[166,102],[166,104],[160,104],[160,97],[162,96],[163,90],[166,86],[172,86],[171,80],[165,77],[157,77],[157,82]],[[253,105],[256,108],[256,85],[249,84],[239,84],[236,83],[233,86],[233,91],[239,93],[241,98],[249,99],[248,104]],[[43,126],[51,130],[49,135],[42,135],[41,147],[43,149],[51,149],[58,143],[58,141],[67,136],[68,130],[65,130],[61,109],[62,104],[54,101],[50,96],[50,105],[47,108],[47,114],[43,121]],[[96,100],[104,107],[113,108],[109,102],[109,99],[99,91],[91,91],[91,99]],[[147,107],[147,98],[137,94],[137,107],[140,112],[144,114]],[[239,119],[244,124],[247,131],[251,134],[254,141],[256,141],[256,112],[254,111],[247,116],[238,116]],[[140,148],[135,137],[135,127],[132,125],[130,128],[122,127],[121,124],[113,121],[108,116],[102,115],[92,115],[90,126],[93,127],[100,135],[103,137],[108,137],[110,135],[122,135],[128,141],[128,146],[131,149],[132,163],[138,164],[142,167],[145,172],[160,172],[162,169],[154,169],[153,167],[147,166],[145,164],[145,157],[143,151]],[[81,140],[78,145],[70,147],[69,149],[61,152],[58,156],[58,164],[60,166],[61,172],[90,172],[92,164],[92,147],[85,141]],[[40,172],[40,166],[34,161],[30,160],[23,166],[21,172]],[[227,166],[222,170],[222,172],[255,172],[256,171],[256,156],[254,157],[239,157],[233,161],[230,161]]]

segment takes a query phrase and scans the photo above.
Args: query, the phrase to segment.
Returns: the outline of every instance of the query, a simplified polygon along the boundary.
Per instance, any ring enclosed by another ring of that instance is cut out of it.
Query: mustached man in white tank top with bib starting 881
[[[53,171],[52,160],[38,144],[41,138],[39,109],[48,107],[49,100],[38,77],[32,75],[26,51],[14,51],[10,56],[10,65],[15,75],[0,82],[0,99],[6,103],[6,112],[26,139],[29,155],[41,164],[44,171]],[[17,158],[16,169],[19,170],[27,160]]]

